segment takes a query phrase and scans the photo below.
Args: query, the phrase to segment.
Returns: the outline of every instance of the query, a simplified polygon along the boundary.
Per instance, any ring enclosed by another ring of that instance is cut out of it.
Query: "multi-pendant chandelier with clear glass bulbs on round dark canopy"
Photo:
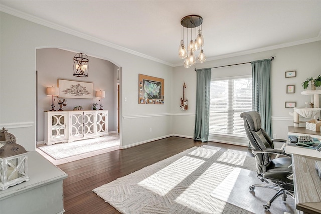
[[[184,67],[189,68],[196,63],[196,56],[195,51],[200,50],[198,55],[198,61],[203,63],[206,61],[206,56],[203,53],[203,45],[204,45],[204,38],[202,35],[202,23],[203,18],[198,15],[189,15],[184,17],[181,20],[182,25],[182,40],[179,47],[179,57],[184,60]],[[198,32],[197,27],[199,27]],[[186,28],[186,44],[187,47],[184,45],[184,28]],[[191,29],[191,41],[189,42],[189,29]],[[195,29],[195,40],[193,40],[193,29]]]

